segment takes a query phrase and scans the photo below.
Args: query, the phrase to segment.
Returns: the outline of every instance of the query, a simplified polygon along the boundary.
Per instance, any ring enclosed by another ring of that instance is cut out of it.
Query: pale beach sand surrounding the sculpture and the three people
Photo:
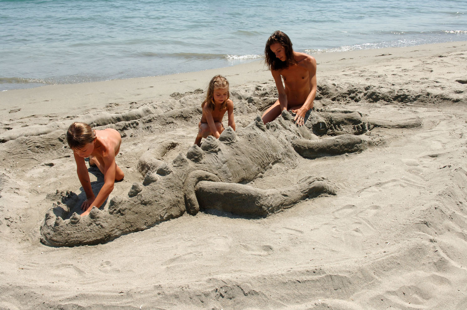
[[[94,246],[40,242],[62,193],[83,199],[68,125],[120,130],[125,179],[110,198],[125,197],[142,183],[147,150],[177,141],[163,157],[171,162],[191,147],[197,89],[225,75],[237,127],[246,127],[276,97],[269,71],[248,63],[1,92],[0,309],[466,309],[467,42],[316,58],[316,108],[422,125],[375,127],[364,134],[379,141],[374,148],[297,156],[248,183],[282,188],[324,176],[336,196],[267,218],[185,213]],[[99,190],[102,175],[89,171]]]

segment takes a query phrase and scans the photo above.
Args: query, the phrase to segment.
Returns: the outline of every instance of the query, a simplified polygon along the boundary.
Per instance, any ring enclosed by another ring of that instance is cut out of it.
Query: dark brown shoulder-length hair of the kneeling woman
[[[285,50],[285,61],[281,61],[276,57],[274,52],[271,50],[271,45],[274,43],[279,43]],[[291,64],[296,64],[297,61],[293,56],[292,42],[288,35],[284,34],[282,31],[275,31],[266,42],[266,47],[264,48],[264,60],[268,65],[269,70],[279,70],[288,68]]]

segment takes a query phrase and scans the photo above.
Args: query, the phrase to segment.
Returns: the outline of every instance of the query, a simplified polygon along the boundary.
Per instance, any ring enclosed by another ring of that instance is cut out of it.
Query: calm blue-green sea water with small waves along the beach
[[[0,0],[0,90],[147,77],[297,51],[467,41],[465,0]]]

